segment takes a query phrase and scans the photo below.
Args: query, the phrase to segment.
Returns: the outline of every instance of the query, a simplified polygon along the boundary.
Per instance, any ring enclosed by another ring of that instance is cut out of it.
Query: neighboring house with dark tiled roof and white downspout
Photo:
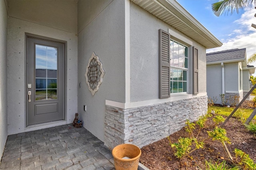
[[[246,61],[246,48],[206,53],[208,98],[217,97],[216,103],[222,104],[219,95],[225,94],[227,105],[234,96],[242,101],[250,91],[250,74],[255,72]]]

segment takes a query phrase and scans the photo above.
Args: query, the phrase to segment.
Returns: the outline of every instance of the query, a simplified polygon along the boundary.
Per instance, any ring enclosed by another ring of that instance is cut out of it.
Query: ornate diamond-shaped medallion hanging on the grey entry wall
[[[100,62],[99,57],[93,52],[84,75],[86,83],[93,96],[95,92],[98,91],[104,74],[105,71],[103,70],[102,63]]]

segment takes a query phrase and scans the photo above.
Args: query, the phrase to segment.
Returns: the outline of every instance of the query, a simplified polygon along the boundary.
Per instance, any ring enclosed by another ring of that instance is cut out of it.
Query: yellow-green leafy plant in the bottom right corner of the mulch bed
[[[242,167],[243,170],[255,170],[256,164],[249,157],[248,154],[244,153],[242,150],[235,148],[236,162]],[[238,160],[240,158],[240,160]]]

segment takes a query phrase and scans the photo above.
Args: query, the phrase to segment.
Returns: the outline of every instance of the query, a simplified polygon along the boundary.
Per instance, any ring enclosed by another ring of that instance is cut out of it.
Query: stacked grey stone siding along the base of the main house
[[[122,143],[141,148],[180,130],[187,119],[196,121],[206,112],[207,96],[132,109],[106,105],[104,142],[110,149]]]

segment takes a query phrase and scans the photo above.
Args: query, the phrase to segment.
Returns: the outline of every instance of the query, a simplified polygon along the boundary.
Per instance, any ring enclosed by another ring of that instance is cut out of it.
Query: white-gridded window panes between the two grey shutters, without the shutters
[[[170,40],[170,93],[187,92],[188,47]]]

